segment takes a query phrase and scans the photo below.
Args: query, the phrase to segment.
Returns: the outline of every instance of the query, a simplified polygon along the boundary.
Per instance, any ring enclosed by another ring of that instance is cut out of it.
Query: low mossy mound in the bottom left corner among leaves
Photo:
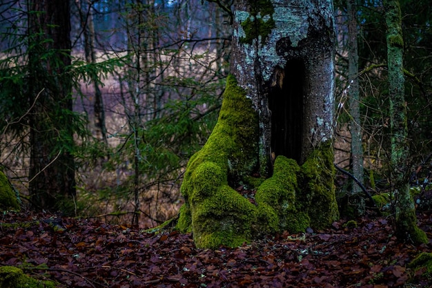
[[[12,266],[0,267],[0,288],[54,288],[54,282],[40,281],[31,278],[19,268]]]

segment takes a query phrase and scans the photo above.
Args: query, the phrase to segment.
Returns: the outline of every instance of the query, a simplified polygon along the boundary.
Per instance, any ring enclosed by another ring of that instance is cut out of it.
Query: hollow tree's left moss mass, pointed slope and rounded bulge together
[[[190,158],[177,229],[193,231],[197,247],[237,246],[251,239],[256,208],[231,189],[257,169],[258,119],[252,102],[229,76],[219,119],[201,151]]]

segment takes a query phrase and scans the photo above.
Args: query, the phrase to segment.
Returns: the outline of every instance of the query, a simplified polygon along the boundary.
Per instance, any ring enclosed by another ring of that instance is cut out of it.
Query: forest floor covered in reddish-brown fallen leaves
[[[418,218],[432,239],[432,214]],[[59,287],[432,287],[424,269],[408,268],[432,242],[398,243],[386,218],[214,251],[196,249],[190,235],[175,231],[155,235],[28,212],[0,219],[0,265]]]

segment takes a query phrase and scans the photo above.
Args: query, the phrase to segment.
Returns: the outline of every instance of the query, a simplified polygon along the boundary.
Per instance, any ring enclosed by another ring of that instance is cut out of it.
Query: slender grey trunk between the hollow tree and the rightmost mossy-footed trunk
[[[362,147],[362,124],[360,119],[360,94],[358,85],[358,49],[357,49],[357,1],[347,0],[348,10],[348,79],[351,81],[348,89],[348,104],[351,114],[351,166],[353,175],[361,183],[363,180],[363,147]],[[352,195],[360,193],[362,189],[353,182]],[[359,201],[362,198],[357,198]],[[360,215],[364,213],[364,202],[359,202],[357,211]]]

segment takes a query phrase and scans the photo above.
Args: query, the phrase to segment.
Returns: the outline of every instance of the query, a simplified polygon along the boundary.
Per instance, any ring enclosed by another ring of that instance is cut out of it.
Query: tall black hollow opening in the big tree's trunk
[[[271,111],[271,151],[300,163],[303,139],[304,62],[293,59],[278,68],[268,95]]]

